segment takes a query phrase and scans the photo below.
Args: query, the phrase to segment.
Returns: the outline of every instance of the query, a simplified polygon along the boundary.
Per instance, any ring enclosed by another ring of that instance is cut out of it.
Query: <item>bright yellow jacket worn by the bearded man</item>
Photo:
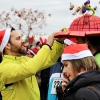
[[[0,79],[13,85],[2,89],[3,100],[40,100],[35,74],[53,65],[62,51],[63,45],[54,41],[52,50],[44,45],[34,58],[5,55],[0,64]]]

